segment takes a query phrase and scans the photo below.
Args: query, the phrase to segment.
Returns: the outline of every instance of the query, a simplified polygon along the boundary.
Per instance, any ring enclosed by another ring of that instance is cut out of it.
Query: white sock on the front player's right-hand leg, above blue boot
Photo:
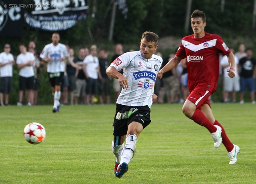
[[[127,164],[131,161],[136,151],[137,137],[134,134],[130,134],[126,137],[126,144],[122,151],[120,163],[126,162]]]

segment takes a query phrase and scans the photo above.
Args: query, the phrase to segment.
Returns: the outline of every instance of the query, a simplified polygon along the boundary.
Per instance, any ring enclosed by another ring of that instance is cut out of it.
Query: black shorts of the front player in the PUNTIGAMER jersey
[[[113,135],[126,135],[128,125],[136,121],[142,124],[143,129],[146,128],[150,120],[150,108],[148,106],[124,106],[116,104],[116,114],[113,123]]]

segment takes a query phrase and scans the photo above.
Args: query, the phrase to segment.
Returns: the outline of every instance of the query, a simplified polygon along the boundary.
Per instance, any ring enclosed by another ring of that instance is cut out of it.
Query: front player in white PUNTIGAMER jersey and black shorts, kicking
[[[112,152],[116,157],[114,172],[118,178],[128,170],[128,163],[136,151],[138,135],[151,122],[150,107],[157,99],[154,83],[162,66],[162,58],[153,54],[157,43],[158,35],[144,32],[140,51],[124,53],[106,70],[109,76],[118,78],[122,87],[116,102],[112,141]],[[118,72],[121,69],[124,69],[124,74]]]

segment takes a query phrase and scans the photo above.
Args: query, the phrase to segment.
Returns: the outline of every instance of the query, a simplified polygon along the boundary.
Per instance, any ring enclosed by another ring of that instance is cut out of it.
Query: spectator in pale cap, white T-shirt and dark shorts
[[[90,55],[83,61],[83,70],[86,76],[86,102],[94,104],[94,97],[98,90],[98,78],[101,79],[99,59],[96,57],[97,46],[90,47]]]

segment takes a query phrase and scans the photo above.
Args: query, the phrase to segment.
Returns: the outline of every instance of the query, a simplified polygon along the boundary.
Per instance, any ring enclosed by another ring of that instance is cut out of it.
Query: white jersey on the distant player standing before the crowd
[[[43,59],[51,58],[52,61],[48,62],[47,72],[56,73],[65,71],[65,63],[61,61],[62,57],[68,57],[68,49],[66,45],[58,43],[54,46],[52,43],[46,45],[40,54]]]

